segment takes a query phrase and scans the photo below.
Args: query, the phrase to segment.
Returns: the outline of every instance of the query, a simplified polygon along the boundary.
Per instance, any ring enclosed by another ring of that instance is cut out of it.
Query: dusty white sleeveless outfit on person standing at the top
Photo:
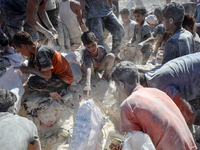
[[[69,32],[70,41],[73,44],[81,44],[82,31],[77,20],[77,15],[70,7],[71,0],[61,1],[59,4],[59,14],[62,24],[65,25]],[[70,20],[70,21],[69,21]]]

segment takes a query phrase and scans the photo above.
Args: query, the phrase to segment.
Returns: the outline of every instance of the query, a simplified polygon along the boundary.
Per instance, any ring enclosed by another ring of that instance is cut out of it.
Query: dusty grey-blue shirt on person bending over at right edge
[[[200,98],[200,53],[182,56],[145,74],[149,87],[174,99],[179,92],[187,101]]]

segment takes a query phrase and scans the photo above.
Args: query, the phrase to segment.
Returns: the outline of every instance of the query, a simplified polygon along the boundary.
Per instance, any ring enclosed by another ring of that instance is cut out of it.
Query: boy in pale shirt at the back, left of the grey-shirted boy
[[[119,14],[121,15],[125,30],[125,41],[128,42],[134,34],[136,22],[130,19],[130,11],[127,8],[122,9]]]

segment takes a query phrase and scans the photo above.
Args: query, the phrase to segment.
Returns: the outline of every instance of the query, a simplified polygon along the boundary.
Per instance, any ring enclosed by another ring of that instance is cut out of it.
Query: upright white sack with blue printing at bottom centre
[[[79,108],[68,150],[102,150],[105,124],[103,114],[88,100]]]

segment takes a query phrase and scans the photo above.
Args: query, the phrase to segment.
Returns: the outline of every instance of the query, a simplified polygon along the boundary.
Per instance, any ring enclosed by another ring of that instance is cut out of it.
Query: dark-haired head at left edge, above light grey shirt
[[[0,89],[0,112],[13,112],[13,106],[16,101],[15,94],[9,90]]]

